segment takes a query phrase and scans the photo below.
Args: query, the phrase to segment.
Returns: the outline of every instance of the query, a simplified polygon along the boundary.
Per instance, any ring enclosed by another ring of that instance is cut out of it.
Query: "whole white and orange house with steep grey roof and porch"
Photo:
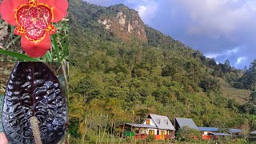
[[[167,116],[149,114],[142,124],[126,123],[120,126],[125,129],[124,136],[131,136],[144,139],[149,135],[154,135],[155,139],[174,138],[174,126]]]

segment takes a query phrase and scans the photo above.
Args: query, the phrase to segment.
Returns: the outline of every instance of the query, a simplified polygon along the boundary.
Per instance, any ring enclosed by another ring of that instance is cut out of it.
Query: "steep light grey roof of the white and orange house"
[[[152,118],[152,120],[154,121],[158,129],[175,130],[173,124],[170,122],[170,119],[167,116],[158,115],[158,114],[149,114],[147,118],[149,117]]]

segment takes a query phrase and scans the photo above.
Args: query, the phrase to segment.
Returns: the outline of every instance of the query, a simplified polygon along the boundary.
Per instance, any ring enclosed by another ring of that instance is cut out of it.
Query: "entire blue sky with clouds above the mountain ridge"
[[[243,69],[256,59],[256,0],[86,0],[123,3],[149,26],[200,50],[216,62]]]

